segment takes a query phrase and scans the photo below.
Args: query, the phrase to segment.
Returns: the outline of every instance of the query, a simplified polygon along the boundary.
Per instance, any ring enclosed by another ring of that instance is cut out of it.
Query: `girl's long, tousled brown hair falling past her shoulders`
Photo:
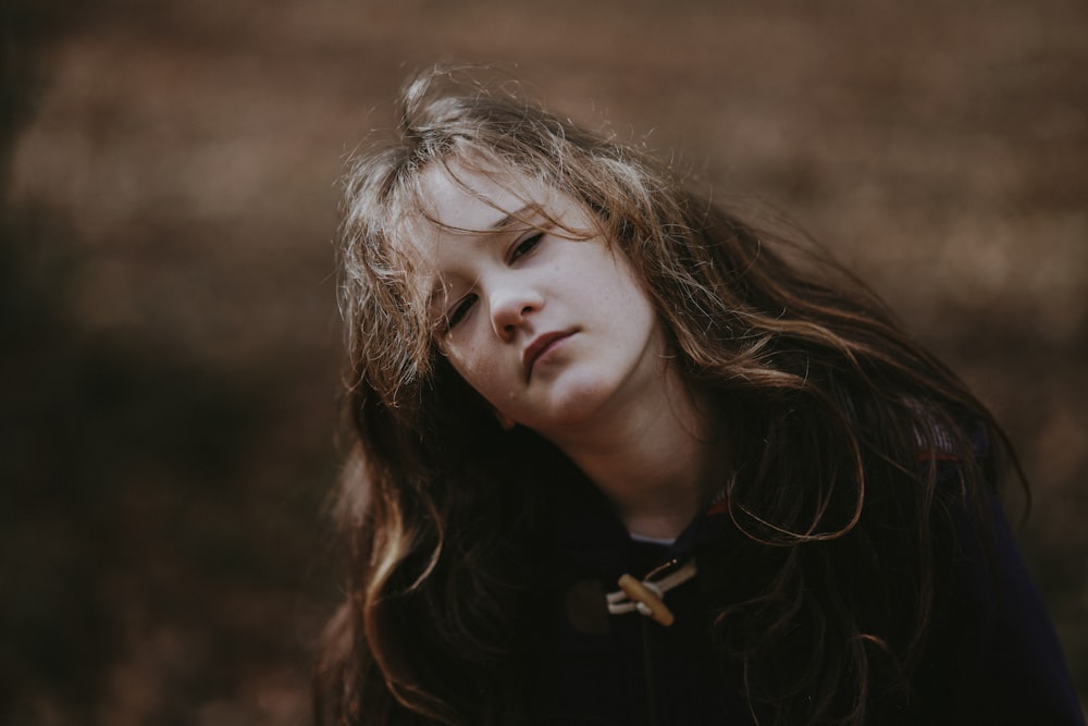
[[[682,379],[743,421],[728,447],[735,585],[713,642],[752,714],[856,725],[908,705],[940,619],[953,513],[986,522],[990,482],[1018,470],[1001,429],[800,235],[709,204],[640,148],[509,84],[457,75],[411,82],[396,138],[347,175],[355,443],[336,515],[349,580],[317,675],[319,721],[531,721],[520,699],[531,545],[547,539],[539,481],[562,463],[532,432],[504,431],[434,343],[403,243],[430,219],[421,173],[453,161],[583,205],[631,261]]]

